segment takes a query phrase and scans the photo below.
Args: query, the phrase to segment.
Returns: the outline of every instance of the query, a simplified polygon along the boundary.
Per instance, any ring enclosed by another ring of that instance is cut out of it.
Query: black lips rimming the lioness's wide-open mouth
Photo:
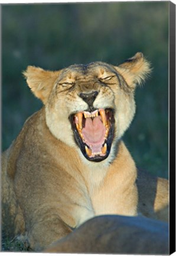
[[[94,111],[94,110],[96,110],[96,109],[94,108],[91,111]],[[86,153],[86,150],[85,150],[85,146],[87,146],[87,145],[81,139],[81,137],[79,135],[79,132],[76,129],[76,124],[74,123],[74,115],[76,113],[73,113],[69,116],[69,120],[70,120],[70,123],[71,123],[71,129],[73,130],[74,140],[77,143],[77,145],[79,146],[80,150],[82,151],[83,156],[91,162],[101,162],[101,161],[105,160],[109,156],[109,153],[110,153],[110,149],[111,149],[112,141],[113,141],[113,137],[114,137],[115,119],[114,119],[114,110],[112,108],[106,108],[106,110],[109,110],[112,113],[112,119],[111,119],[111,122],[110,122],[109,135],[108,135],[107,139],[105,140],[105,143],[107,144],[107,151],[106,151],[105,156],[94,156],[92,158],[87,156],[87,153]],[[87,109],[87,110],[84,110],[84,111],[90,111],[90,109]]]

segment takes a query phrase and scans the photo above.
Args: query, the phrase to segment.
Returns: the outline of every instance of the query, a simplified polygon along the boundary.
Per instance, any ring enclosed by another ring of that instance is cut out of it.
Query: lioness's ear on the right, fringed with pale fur
[[[135,56],[115,68],[132,88],[135,88],[136,84],[142,84],[146,76],[151,73],[150,64],[142,53],[136,53]]]

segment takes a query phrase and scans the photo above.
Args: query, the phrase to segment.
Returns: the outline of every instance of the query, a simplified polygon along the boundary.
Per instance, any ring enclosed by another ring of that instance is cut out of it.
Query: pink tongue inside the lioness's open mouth
[[[105,141],[106,128],[103,125],[100,116],[86,119],[85,127],[82,134],[86,140],[86,144],[91,146],[92,153],[101,152],[102,145]]]

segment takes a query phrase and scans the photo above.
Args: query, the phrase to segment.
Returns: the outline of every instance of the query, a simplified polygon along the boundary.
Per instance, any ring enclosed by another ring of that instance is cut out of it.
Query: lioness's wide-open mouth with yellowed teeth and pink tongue
[[[111,108],[83,111],[69,117],[74,139],[85,158],[100,162],[110,153],[114,135],[114,114]]]

